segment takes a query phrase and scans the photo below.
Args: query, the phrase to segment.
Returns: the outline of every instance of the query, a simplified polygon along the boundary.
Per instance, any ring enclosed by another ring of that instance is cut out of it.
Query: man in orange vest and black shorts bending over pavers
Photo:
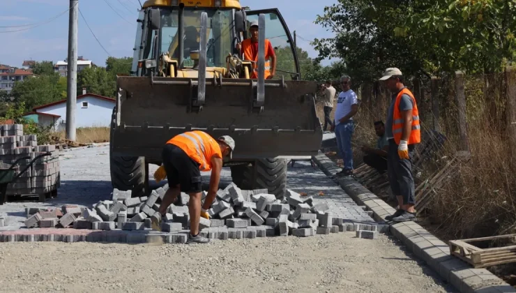
[[[153,229],[161,230],[162,216],[170,204],[176,201],[181,192],[188,193],[190,235],[187,243],[208,243],[209,240],[199,234],[200,217],[209,218],[207,210],[217,194],[222,158],[232,158],[234,149],[235,141],[228,135],[215,140],[207,133],[195,130],[172,137],[163,147],[161,154],[169,189],[163,197],[160,209],[151,217]],[[201,171],[210,170],[210,187],[204,205],[201,206]]]

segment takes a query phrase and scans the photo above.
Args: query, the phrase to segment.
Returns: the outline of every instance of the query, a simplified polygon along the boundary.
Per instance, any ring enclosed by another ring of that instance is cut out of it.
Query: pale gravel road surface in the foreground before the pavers
[[[453,292],[387,236],[0,243],[0,292]]]

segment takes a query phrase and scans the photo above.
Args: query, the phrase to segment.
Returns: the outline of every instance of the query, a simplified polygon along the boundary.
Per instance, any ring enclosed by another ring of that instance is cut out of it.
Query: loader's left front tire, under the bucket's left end
[[[116,107],[113,109],[109,144],[113,143],[114,119]],[[146,167],[144,157],[113,156],[109,147],[109,169],[111,184],[118,190],[132,190],[132,197],[142,197],[146,193]]]

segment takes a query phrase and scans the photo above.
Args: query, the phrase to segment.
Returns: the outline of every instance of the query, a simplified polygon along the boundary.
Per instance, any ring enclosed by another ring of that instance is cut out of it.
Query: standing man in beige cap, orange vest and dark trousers
[[[389,145],[387,172],[390,188],[398,202],[397,211],[385,219],[396,223],[416,220],[412,158],[414,147],[421,142],[418,105],[411,91],[404,86],[400,69],[387,68],[380,80],[393,93],[385,130]]]

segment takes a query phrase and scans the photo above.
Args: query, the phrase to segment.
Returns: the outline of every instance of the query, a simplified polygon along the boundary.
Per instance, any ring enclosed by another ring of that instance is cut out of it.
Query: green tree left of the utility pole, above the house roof
[[[61,91],[57,86],[59,75],[38,75],[15,82],[11,96],[18,105],[24,103],[27,112],[33,107],[61,100]]]

